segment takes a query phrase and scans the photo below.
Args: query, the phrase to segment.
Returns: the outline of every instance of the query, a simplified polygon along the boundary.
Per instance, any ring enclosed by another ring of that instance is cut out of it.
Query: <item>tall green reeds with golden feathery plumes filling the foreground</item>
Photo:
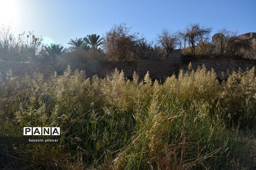
[[[6,169],[218,170],[256,168],[254,68],[224,82],[198,68],[163,84],[114,71],[9,77],[0,84],[0,136],[61,127],[56,144],[0,145]]]

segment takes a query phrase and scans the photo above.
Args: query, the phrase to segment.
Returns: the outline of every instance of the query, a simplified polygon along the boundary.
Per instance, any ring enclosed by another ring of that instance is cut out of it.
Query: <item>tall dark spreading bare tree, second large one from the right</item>
[[[208,42],[209,34],[212,32],[212,28],[201,27],[198,23],[190,24],[186,27],[186,30],[180,32],[179,35],[183,38],[183,40],[187,40],[192,54],[195,54],[195,48],[200,43]]]

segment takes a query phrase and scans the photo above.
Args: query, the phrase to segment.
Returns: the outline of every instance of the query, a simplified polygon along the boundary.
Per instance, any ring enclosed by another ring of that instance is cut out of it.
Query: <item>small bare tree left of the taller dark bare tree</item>
[[[164,28],[161,34],[157,34],[157,42],[166,49],[166,57],[168,57],[178,45],[178,37],[176,34],[171,34],[167,28]]]

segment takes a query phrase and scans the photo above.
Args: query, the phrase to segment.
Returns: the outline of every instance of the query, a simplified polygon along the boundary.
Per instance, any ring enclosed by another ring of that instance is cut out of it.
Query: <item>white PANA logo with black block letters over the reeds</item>
[[[60,127],[23,127],[23,136],[60,136]]]

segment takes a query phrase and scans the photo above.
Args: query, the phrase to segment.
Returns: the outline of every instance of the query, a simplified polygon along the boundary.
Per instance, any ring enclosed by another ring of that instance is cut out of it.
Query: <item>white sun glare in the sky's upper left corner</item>
[[[16,17],[14,0],[0,0],[0,25],[12,23]]]

